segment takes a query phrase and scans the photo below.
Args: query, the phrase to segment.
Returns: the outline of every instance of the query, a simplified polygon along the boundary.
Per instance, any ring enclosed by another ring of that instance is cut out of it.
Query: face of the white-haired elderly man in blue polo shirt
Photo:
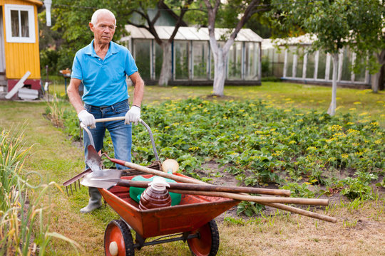
[[[100,14],[96,24],[90,22],[95,41],[100,44],[108,44],[115,33],[115,18],[109,14]]]

